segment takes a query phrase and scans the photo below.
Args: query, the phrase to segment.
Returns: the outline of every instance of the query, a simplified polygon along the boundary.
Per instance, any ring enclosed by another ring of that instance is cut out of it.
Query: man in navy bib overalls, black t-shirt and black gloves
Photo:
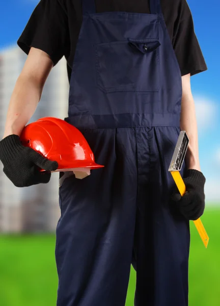
[[[29,55],[0,142],[4,172],[24,187],[50,179],[30,170],[36,159],[57,168],[19,135],[63,56],[66,121],[105,166],[60,187],[57,305],[124,306],[132,264],[136,306],[187,306],[189,220],[205,206],[190,75],[207,68],[186,1],[41,0],[18,44]],[[190,145],[180,199],[168,168],[181,130]]]

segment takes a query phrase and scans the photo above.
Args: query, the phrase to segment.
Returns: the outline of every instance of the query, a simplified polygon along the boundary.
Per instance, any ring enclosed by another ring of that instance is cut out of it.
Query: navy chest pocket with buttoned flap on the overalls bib
[[[159,46],[154,38],[96,44],[97,86],[106,93],[158,91]]]

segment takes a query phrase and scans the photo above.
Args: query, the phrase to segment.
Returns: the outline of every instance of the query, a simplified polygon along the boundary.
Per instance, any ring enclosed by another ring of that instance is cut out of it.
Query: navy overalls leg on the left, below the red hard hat
[[[125,304],[135,226],[137,176],[133,129],[87,131],[97,163],[60,187],[58,306]],[[125,158],[126,157],[126,158]]]

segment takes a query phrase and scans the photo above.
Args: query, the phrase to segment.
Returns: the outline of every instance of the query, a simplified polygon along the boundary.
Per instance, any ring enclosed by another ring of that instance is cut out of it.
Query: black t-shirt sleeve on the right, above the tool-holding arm
[[[178,18],[174,23],[173,47],[181,74],[191,75],[207,70],[194,29],[194,21],[186,0],[180,1]]]

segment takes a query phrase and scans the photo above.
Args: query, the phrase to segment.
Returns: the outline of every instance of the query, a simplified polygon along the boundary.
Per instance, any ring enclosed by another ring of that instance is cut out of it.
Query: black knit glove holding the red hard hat
[[[30,147],[22,145],[18,135],[9,135],[0,141],[0,160],[4,173],[16,187],[28,187],[40,183],[48,183],[50,172],[40,172],[39,168],[54,171],[57,162],[41,156]]]

